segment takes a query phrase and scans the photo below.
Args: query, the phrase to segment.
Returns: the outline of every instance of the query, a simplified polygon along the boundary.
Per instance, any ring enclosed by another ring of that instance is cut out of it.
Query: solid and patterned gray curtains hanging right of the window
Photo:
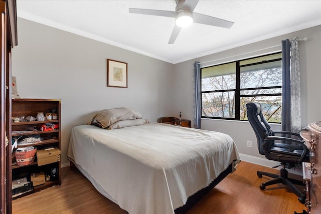
[[[282,41],[282,130],[299,132],[300,116],[298,39],[293,38]]]

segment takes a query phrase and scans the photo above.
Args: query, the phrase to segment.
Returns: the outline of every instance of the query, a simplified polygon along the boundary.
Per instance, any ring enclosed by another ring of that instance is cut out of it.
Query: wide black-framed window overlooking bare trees
[[[281,53],[201,68],[202,118],[247,120],[260,102],[268,122],[281,122]]]

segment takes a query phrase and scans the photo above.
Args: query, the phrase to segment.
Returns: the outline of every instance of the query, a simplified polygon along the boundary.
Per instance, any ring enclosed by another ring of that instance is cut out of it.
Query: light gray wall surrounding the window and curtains
[[[209,66],[270,53],[281,50],[281,46],[278,46],[281,44],[281,40],[291,40],[293,37],[298,37],[299,39],[304,37],[308,38],[307,41],[299,42],[301,126],[304,127],[308,123],[321,120],[321,26],[176,64],[174,76],[176,83],[174,91],[174,112],[177,113],[184,109],[184,118],[193,119],[193,62],[198,61],[202,63],[212,61],[201,64],[201,66]],[[272,128],[275,130],[280,129],[280,125],[273,125]],[[227,133],[234,139],[240,153],[262,158],[262,155],[260,155],[257,150],[255,134],[248,122],[202,119],[202,129]],[[247,140],[252,141],[252,148],[247,147]]]

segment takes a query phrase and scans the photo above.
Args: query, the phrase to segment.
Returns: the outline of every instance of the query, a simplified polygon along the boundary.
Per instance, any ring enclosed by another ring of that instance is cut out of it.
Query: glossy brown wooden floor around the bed
[[[294,211],[302,212],[305,209],[293,193],[281,188],[283,184],[260,190],[259,185],[269,178],[257,177],[257,170],[279,172],[242,161],[234,173],[224,178],[187,213],[293,214]],[[60,186],[13,200],[13,213],[126,213],[101,195],[75,167],[65,167],[61,172]]]

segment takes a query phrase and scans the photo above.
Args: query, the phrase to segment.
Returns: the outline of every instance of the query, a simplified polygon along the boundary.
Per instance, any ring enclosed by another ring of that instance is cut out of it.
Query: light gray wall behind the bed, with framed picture
[[[128,63],[128,88],[106,87],[107,59]],[[129,107],[156,121],[173,115],[174,65],[18,19],[12,75],[22,98],[62,99],[62,164],[71,128],[106,108]]]

